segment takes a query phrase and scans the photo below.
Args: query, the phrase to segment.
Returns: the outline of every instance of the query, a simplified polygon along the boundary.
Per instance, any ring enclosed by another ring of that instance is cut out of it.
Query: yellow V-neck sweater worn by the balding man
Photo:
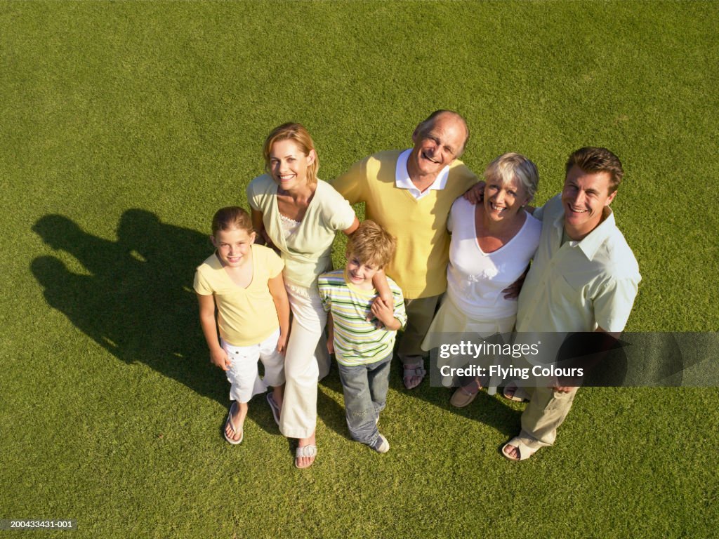
[[[429,298],[446,290],[449,234],[446,229],[454,200],[477,183],[464,163],[455,160],[441,190],[420,200],[395,186],[399,150],[380,152],[356,162],[332,182],[349,203],[365,202],[366,215],[397,238],[397,252],[385,268],[402,288],[405,299]]]

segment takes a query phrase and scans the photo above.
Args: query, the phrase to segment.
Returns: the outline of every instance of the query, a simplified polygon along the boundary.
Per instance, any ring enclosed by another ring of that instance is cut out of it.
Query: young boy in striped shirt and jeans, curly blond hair
[[[327,349],[339,364],[349,433],[378,453],[390,450],[377,422],[387,399],[395,334],[405,326],[407,315],[402,290],[389,277],[393,307],[374,302],[372,277],[390,262],[395,245],[379,225],[364,221],[349,236],[344,270],[324,273],[318,281],[324,310],[330,313]],[[367,321],[371,318],[380,323]]]

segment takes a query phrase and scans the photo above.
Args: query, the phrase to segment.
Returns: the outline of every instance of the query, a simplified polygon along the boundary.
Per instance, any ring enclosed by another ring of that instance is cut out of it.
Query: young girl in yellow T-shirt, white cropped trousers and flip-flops
[[[242,427],[252,395],[273,386],[274,400],[282,406],[290,328],[290,304],[282,278],[285,264],[272,249],[254,244],[252,219],[237,206],[215,213],[210,239],[217,250],[197,268],[194,287],[210,361],[226,372],[231,384],[233,402],[224,436],[237,444],[244,437]],[[257,374],[257,359],[265,365],[263,381]],[[279,420],[275,414],[275,421]]]

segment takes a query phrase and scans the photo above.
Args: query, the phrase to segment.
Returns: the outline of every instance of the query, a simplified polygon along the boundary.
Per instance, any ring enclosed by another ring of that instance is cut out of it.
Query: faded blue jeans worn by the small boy
[[[346,367],[338,364],[347,426],[352,438],[358,442],[372,445],[380,436],[377,418],[387,402],[391,359],[392,354],[368,365]]]

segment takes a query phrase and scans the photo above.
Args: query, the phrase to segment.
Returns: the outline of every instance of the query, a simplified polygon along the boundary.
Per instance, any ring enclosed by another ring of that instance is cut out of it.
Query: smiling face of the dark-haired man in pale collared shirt
[[[609,172],[585,172],[574,165],[567,172],[562,190],[564,230],[579,241],[602,222],[604,208],[614,200],[616,191],[609,193]]]

